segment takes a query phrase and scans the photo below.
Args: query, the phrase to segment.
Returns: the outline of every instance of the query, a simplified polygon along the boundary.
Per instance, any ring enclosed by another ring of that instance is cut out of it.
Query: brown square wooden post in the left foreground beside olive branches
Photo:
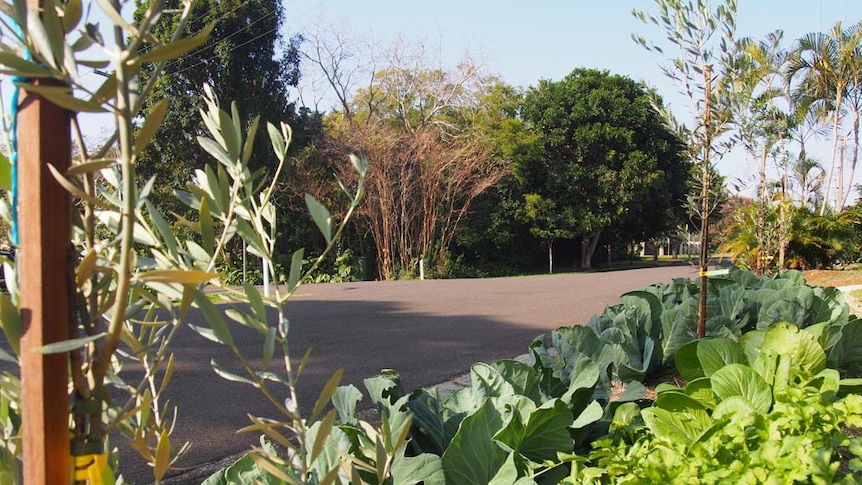
[[[36,8],[33,3],[38,0],[27,0],[28,8]],[[70,201],[48,171],[48,164],[60,172],[70,165],[69,112],[26,94],[19,109],[18,140],[24,483],[68,484],[68,355],[31,349],[69,339]]]

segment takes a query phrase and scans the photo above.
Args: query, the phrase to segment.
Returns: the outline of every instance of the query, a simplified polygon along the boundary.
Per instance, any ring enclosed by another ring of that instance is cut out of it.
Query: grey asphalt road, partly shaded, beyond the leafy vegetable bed
[[[626,291],[695,275],[692,266],[675,266],[518,278],[306,285],[287,304],[294,361],[312,349],[299,381],[300,403],[306,409],[313,405],[320,388],[339,368],[344,369],[342,384],[354,384],[363,392],[362,380],[387,368],[400,372],[408,392],[433,386],[466,373],[474,362],[524,354],[536,336],[584,323],[605,306],[618,303]],[[193,323],[199,319],[191,316]],[[242,330],[235,328],[234,338],[243,353],[262,355],[262,339]],[[215,375],[211,359],[236,369],[230,351],[188,329],[174,348],[177,362],[169,394],[179,417],[172,440],[192,444],[181,464],[199,468],[258,443],[257,434],[235,431],[250,424],[249,413],[278,415],[255,389]],[[271,365],[270,370],[278,369]],[[362,407],[371,407],[367,397]],[[127,482],[151,483],[150,469],[135,452],[123,451],[121,466]],[[201,472],[186,472],[170,483],[200,483],[201,476]]]

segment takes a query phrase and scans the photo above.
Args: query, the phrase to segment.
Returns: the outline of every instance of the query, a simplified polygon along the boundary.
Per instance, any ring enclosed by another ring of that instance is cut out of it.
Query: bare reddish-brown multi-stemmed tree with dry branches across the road
[[[381,60],[360,62],[336,34],[315,35],[304,52],[341,104],[319,148],[344,179],[353,177],[344,152],[371,161],[360,216],[382,278],[411,273],[421,258],[441,268],[470,203],[508,171],[472,123],[492,80],[469,57],[454,69],[430,62],[422,43],[399,40]]]

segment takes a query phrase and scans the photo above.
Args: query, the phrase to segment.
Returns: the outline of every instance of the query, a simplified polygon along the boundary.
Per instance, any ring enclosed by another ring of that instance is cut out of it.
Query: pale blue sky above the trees
[[[284,1],[290,33],[311,29],[325,17],[384,43],[399,35],[439,43],[443,62],[450,66],[469,49],[484,55],[489,72],[524,87],[540,79],[559,80],[578,67],[607,69],[655,86],[680,120],[690,119],[687,101],[675,94],[676,86],[660,70],[663,59],[631,40],[632,33],[662,39],[660,29],[631,15],[633,7],[654,12],[652,1]],[[829,31],[836,21],[846,25],[860,19],[860,0],[741,0],[737,33],[759,40],[781,29],[789,46],[806,33]],[[812,151],[826,166],[831,145],[829,140],[818,145]],[[753,167],[742,154],[719,163],[730,178],[752,173]],[[858,180],[862,174],[854,183]]]

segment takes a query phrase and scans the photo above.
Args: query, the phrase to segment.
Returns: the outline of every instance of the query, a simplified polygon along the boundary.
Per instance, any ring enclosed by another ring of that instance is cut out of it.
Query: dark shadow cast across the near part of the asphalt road
[[[393,302],[293,301],[288,304],[288,311],[294,368],[298,368],[305,351],[312,349],[298,383],[300,406],[306,414],[323,384],[340,368],[344,369],[342,384],[353,384],[363,394],[363,379],[387,368],[401,373],[407,389],[428,387],[463,374],[475,362],[525,353],[530,341],[542,333],[529,326],[484,316],[411,312],[407,305]],[[253,365],[259,366],[263,337],[238,325],[231,329],[238,348]],[[179,407],[179,419],[172,440],[192,442],[181,465],[195,466],[257,444],[257,433],[235,434],[237,429],[250,424],[249,413],[281,418],[256,389],[215,375],[209,364],[211,359],[231,372],[244,375],[228,348],[184,329],[175,342],[174,352],[176,372],[167,395],[171,405]],[[280,357],[277,354],[268,370],[283,373]],[[131,382],[141,375],[139,370],[131,368],[124,372]],[[271,389],[282,399],[288,397],[287,389],[279,384],[273,383]],[[366,395],[360,409],[371,407]],[[128,451],[121,455],[126,479],[130,483],[152,481],[149,468],[134,451]]]

